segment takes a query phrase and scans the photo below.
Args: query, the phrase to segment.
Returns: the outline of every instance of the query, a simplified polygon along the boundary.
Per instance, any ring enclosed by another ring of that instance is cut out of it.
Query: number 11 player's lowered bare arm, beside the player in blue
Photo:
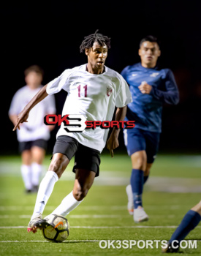
[[[124,108],[117,108],[115,113],[115,121],[124,121],[126,116],[126,106]],[[107,149],[110,150],[111,157],[114,156],[113,149],[118,148],[118,135],[120,129],[113,128],[113,132],[111,132],[110,138],[107,140]]]

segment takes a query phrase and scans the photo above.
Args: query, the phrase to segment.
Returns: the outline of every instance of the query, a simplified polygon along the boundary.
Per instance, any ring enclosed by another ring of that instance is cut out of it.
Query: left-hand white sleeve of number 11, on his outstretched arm
[[[48,83],[46,88],[47,94],[56,94],[61,91],[61,89],[68,91],[67,79],[70,74],[71,69],[66,69],[61,75],[58,76],[58,78],[55,78],[50,83]]]

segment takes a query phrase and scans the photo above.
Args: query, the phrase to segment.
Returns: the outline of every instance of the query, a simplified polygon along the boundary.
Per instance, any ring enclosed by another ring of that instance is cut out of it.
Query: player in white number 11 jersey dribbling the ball
[[[14,129],[27,120],[29,111],[38,102],[45,99],[48,94],[55,94],[61,89],[68,92],[62,116],[82,114],[88,121],[111,121],[116,106],[115,120],[124,121],[126,105],[132,102],[132,97],[124,78],[118,72],[105,66],[109,48],[110,38],[98,34],[97,31],[85,37],[80,45],[80,52],[86,53],[88,63],[73,69],[66,69],[58,78],[44,86],[18,115],[18,123]],[[113,149],[118,147],[119,132],[120,129],[113,129],[107,140],[108,129],[85,129],[83,132],[70,133],[61,124],[49,170],[39,185],[28,232],[35,233],[37,227],[47,225],[47,220],[42,219],[42,212],[53,192],[54,184],[64,173],[74,155],[75,184],[73,190],[67,197],[64,197],[52,214],[65,217],[80,204],[91,188],[94,178],[99,176],[99,156],[105,147],[106,140],[107,148],[113,157]]]

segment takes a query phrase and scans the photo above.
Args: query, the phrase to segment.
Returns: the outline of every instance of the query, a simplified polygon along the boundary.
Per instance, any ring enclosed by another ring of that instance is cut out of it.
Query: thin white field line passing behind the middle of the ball
[[[121,229],[121,228],[176,228],[178,226],[70,226],[70,228],[84,228],[84,229]],[[0,229],[20,229],[20,228],[27,228],[27,226],[6,226],[0,227]],[[197,226],[196,228],[201,228],[201,226]]]

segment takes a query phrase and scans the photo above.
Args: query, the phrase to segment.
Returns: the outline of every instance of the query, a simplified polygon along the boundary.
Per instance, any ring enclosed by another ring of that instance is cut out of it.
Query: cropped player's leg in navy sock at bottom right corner
[[[183,217],[180,225],[173,233],[167,247],[162,249],[162,252],[178,252],[179,243],[190,233],[201,220],[201,201],[196,206],[191,208]]]

